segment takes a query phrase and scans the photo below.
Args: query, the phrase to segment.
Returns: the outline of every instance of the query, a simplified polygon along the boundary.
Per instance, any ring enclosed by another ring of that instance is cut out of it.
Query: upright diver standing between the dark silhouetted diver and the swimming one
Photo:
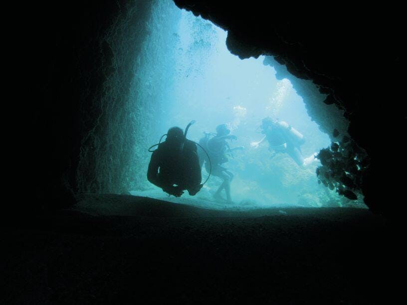
[[[243,148],[237,147],[231,149],[226,140],[237,140],[237,137],[229,134],[230,130],[227,128],[226,124],[222,124],[216,127],[216,134],[205,133],[205,137],[200,140],[199,144],[204,147],[205,151],[208,152],[212,166],[211,174],[223,180],[219,188],[213,194],[213,197],[218,200],[224,200],[220,195],[220,192],[224,189],[226,192],[226,202],[232,203],[230,195],[230,182],[233,179],[233,174],[220,164],[228,161],[226,156],[227,152],[232,152],[233,150]],[[211,136],[213,136],[213,138],[211,138]],[[204,163],[206,171],[209,172],[209,162],[207,160],[207,156],[200,153],[201,167]]]

